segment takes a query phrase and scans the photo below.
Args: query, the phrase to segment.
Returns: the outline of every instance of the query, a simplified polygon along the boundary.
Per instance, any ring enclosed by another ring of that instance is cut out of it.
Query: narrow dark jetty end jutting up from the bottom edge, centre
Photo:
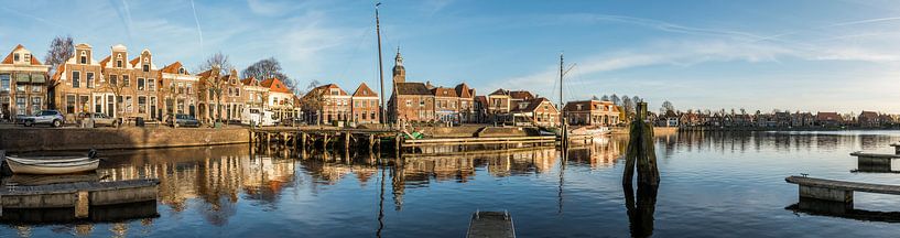
[[[507,212],[475,212],[471,214],[467,238],[514,238],[516,227]]]

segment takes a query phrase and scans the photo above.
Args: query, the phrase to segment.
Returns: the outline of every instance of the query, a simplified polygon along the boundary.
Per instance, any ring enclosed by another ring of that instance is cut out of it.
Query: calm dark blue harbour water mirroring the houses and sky
[[[675,231],[716,236],[715,227],[708,231],[696,230],[695,224],[685,225],[681,220],[734,226],[733,217],[748,214],[777,223],[752,224],[753,229],[741,230],[759,234],[760,228],[796,223],[780,216],[788,213],[781,209],[784,205],[796,201],[795,186],[787,186],[781,180],[785,173],[805,172],[801,169],[814,174],[836,171],[828,176],[844,178],[841,176],[845,174],[897,183],[896,177],[887,177],[893,174],[848,173],[856,161],[847,153],[855,150],[890,150],[892,153],[887,144],[898,139],[898,132],[666,134],[655,140],[660,169],[666,181],[665,187],[659,191],[641,187],[631,191],[620,186],[624,161],[619,159],[627,147],[622,137],[596,140],[572,148],[565,154],[542,149],[401,160],[358,151],[324,153],[249,145],[105,151],[109,161],[101,164],[97,176],[160,178],[159,217],[63,225],[13,224],[6,227],[8,231],[0,230],[0,236],[145,232],[164,237],[171,235],[166,232],[172,229],[203,230],[184,236],[215,236],[205,232],[217,230],[239,232],[234,236],[252,232],[348,237],[440,232],[453,236],[453,230],[464,231],[466,226],[454,224],[453,216],[462,214],[459,217],[465,223],[477,208],[474,206],[481,204],[510,208],[517,213],[517,225],[522,225],[517,226],[521,234],[543,237],[621,236],[629,232],[626,226],[635,237],[676,236]],[[720,174],[729,176],[715,176]],[[655,206],[658,193],[659,204],[665,206]],[[746,197],[753,199],[748,202]],[[887,207],[897,204],[887,199],[877,202],[872,204]],[[698,203],[704,206],[698,207]],[[697,212],[704,209],[706,212]],[[140,210],[135,208],[132,214]],[[43,214],[32,220],[15,219],[37,221],[59,217],[64,216]],[[182,223],[189,225],[182,228],[178,226]],[[355,226],[335,229],[346,224]],[[802,227],[802,224],[794,225]],[[838,227],[853,227],[849,225]],[[265,230],[258,231],[260,228]],[[779,234],[791,235],[774,232],[774,236]]]

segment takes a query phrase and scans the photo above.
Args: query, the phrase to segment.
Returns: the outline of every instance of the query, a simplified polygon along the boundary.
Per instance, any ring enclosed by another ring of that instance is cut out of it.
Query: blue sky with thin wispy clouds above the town
[[[275,57],[305,88],[379,88],[379,1],[0,1],[0,51],[43,57],[56,35],[162,67],[210,54],[238,71]],[[617,94],[659,108],[900,113],[896,1],[381,0],[384,91],[398,47],[408,82],[560,100]]]

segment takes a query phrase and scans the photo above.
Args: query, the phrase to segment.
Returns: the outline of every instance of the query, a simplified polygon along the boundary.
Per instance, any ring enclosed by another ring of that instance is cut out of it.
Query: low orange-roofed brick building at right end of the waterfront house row
[[[563,107],[565,118],[573,126],[612,126],[619,123],[619,108],[612,101],[570,101]]]

